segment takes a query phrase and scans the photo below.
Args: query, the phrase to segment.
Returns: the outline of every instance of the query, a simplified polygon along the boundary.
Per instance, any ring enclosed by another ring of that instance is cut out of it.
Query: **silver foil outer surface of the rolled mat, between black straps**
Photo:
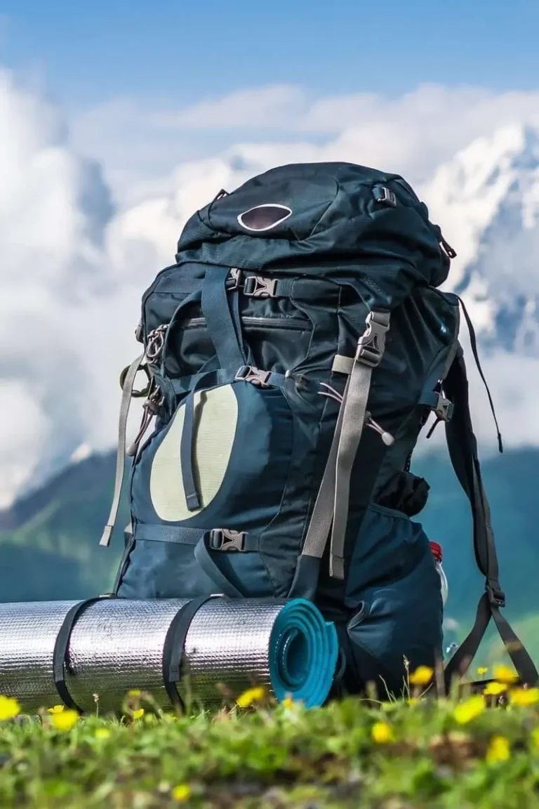
[[[181,599],[104,599],[78,617],[66,656],[65,683],[81,709],[118,710],[128,690],[152,693],[171,705],[162,679],[162,654]],[[0,604],[0,693],[35,712],[60,702],[53,650],[73,601]],[[210,599],[193,618],[185,642],[192,697],[204,705],[223,700],[222,685],[237,694],[251,684],[271,685],[268,653],[284,602]],[[180,693],[185,696],[185,686]]]

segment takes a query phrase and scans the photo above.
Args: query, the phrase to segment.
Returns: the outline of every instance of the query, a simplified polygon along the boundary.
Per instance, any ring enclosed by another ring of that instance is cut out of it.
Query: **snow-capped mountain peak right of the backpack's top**
[[[470,304],[483,346],[539,357],[539,129],[479,138],[421,196],[457,250],[447,287]]]

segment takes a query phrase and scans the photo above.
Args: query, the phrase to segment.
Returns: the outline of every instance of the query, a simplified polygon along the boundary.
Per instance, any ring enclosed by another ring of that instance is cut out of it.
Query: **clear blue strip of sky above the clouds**
[[[2,0],[0,11],[0,63],[44,75],[72,108],[274,83],[391,95],[539,78],[537,0]]]

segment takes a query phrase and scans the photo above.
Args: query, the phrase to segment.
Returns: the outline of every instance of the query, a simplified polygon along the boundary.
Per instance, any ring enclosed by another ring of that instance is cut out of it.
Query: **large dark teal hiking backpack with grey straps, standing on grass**
[[[411,454],[435,413],[486,576],[478,625],[448,676],[491,615],[507,639],[458,299],[436,289],[454,255],[401,177],[349,163],[273,169],[192,216],[176,263],[144,294],[144,354],[122,380],[102,544],[135,375],[148,377],[127,453],[119,597],[314,599],[339,631],[343,687],[400,693],[405,658],[441,659],[440,578],[411,520],[428,491]],[[524,650],[513,654],[537,679]]]

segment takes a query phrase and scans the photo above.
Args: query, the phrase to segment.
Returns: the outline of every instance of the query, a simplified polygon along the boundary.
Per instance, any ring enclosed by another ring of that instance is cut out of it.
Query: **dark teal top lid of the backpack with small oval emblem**
[[[386,279],[392,292],[404,286],[402,299],[410,282],[440,286],[453,256],[401,176],[353,163],[298,163],[247,180],[197,211],[176,260],[279,273],[299,268],[344,282],[370,274],[382,286]]]

